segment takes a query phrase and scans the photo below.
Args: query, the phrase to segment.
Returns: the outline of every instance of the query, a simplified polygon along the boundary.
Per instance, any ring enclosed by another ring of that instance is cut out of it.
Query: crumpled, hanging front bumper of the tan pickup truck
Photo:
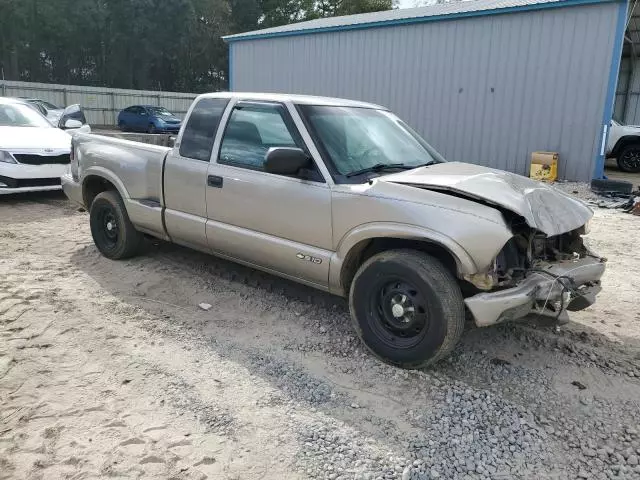
[[[582,310],[595,302],[595,296],[602,290],[600,278],[604,269],[605,260],[595,256],[549,263],[540,268],[542,271],[530,272],[513,288],[479,293],[465,303],[479,327],[529,313],[560,316],[566,310]],[[567,294],[568,279],[580,295]]]

